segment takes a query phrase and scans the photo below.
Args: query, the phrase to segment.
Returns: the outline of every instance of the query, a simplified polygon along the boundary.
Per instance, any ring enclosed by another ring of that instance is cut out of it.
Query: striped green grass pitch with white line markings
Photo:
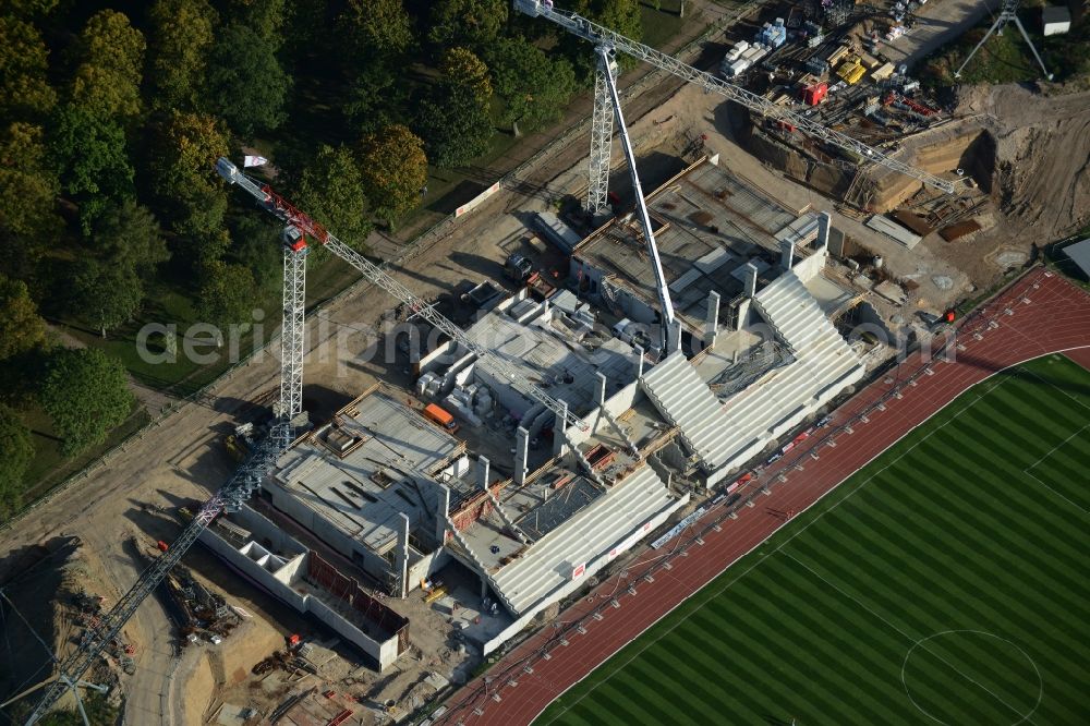
[[[1090,373],[973,387],[535,724],[1090,723]]]

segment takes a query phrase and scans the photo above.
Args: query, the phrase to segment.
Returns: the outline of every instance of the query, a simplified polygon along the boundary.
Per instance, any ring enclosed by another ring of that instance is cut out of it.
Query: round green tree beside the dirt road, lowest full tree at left
[[[136,403],[121,361],[95,348],[53,351],[38,399],[63,439],[65,456],[105,441]]]

